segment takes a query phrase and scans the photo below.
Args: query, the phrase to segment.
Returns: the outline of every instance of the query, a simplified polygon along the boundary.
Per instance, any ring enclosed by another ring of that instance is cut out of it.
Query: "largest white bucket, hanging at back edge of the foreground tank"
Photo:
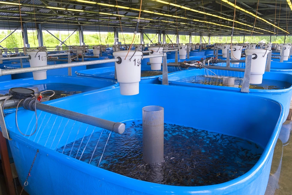
[[[127,53],[128,51],[118,51],[113,53],[114,58],[120,57],[122,59],[120,64],[115,62],[117,81],[120,83],[121,95],[136,95],[139,93],[139,82],[141,80],[141,56],[143,53],[139,51],[135,52],[133,50],[129,51],[128,55]]]

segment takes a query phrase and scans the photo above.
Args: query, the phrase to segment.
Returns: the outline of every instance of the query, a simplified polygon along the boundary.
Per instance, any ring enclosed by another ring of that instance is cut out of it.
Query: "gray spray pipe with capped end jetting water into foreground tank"
[[[25,108],[27,110],[35,111],[34,110],[35,99],[32,99],[32,98],[25,99],[22,102],[22,106],[23,106],[23,108]],[[109,131],[114,131],[117,134],[122,134],[125,131],[125,124],[120,123],[120,122],[112,122],[112,121],[108,121],[105,119],[100,119],[100,118],[96,118],[93,116],[73,112],[70,110],[57,108],[57,107],[50,106],[47,104],[42,104],[39,102],[36,102],[36,108],[37,108],[37,110],[41,110],[41,111],[51,113],[51,114],[54,114],[57,116],[62,116],[62,117],[65,117],[67,119],[71,119],[74,121],[78,121],[78,122],[82,122],[82,123],[85,123],[88,125],[92,125],[94,127],[99,127],[99,128],[106,129]]]

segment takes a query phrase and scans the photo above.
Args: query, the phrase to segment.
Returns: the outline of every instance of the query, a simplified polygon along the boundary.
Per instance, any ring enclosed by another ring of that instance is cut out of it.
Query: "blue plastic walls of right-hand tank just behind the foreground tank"
[[[217,75],[222,76],[243,76],[243,72],[235,72],[235,71],[227,71],[227,70],[212,70]],[[216,85],[203,85],[198,83],[191,83],[191,82],[178,82],[177,80],[186,78],[189,76],[195,75],[205,75],[205,69],[191,69],[191,70],[183,70],[175,73],[170,73],[168,76],[169,85],[177,85],[177,86],[187,86],[187,87],[199,87],[199,88],[209,88],[214,90],[224,90],[224,91],[232,91],[236,93],[241,93],[241,88],[235,87],[227,87],[227,86],[216,86]],[[270,80],[278,80],[278,81],[285,81],[290,84],[289,88],[285,89],[249,89],[249,93],[251,95],[259,95],[266,98],[271,98],[280,102],[284,106],[285,111],[285,119],[289,114],[290,108],[290,101],[292,96],[292,75],[289,74],[282,74],[282,73],[272,73],[272,72],[265,72],[263,74],[263,79],[270,79]],[[162,76],[160,76],[159,80],[162,82]]]

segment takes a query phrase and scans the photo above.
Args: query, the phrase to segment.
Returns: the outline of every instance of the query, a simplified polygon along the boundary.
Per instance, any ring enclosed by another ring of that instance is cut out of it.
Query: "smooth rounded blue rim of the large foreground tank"
[[[142,85],[153,85],[153,84],[142,84]],[[181,86],[169,86],[169,87],[181,87]],[[118,87],[119,88],[119,87]],[[111,89],[107,89],[111,90]],[[208,90],[208,89],[202,89],[202,90]],[[97,93],[102,91],[96,91]],[[81,95],[81,94],[78,94]],[[242,94],[247,95],[247,94]],[[79,161],[74,158],[64,158],[64,155],[53,151],[47,147],[41,146],[40,144],[37,144],[33,142],[32,140],[23,139],[22,136],[19,134],[14,133],[13,131],[9,131],[9,135],[13,140],[16,140],[19,143],[22,143],[25,146],[29,146],[35,151],[38,149],[40,154],[48,155],[50,158],[53,158],[56,161],[59,161],[62,164],[66,164],[69,167],[72,167],[76,170],[79,170],[81,172],[84,172],[88,175],[95,176],[98,178],[102,178],[107,182],[114,183],[132,190],[142,191],[144,193],[150,193],[150,194],[174,194],[174,193],[202,193],[202,194],[210,194],[210,193],[222,193],[223,190],[226,190],[227,192],[238,190],[239,188],[243,188],[246,185],[253,182],[257,177],[256,175],[261,174],[262,168],[265,167],[265,165],[268,163],[269,158],[271,155],[273,155],[273,150],[276,145],[278,136],[280,134],[281,125],[284,120],[284,107],[281,103],[264,97],[259,97],[257,95],[248,95],[253,96],[254,98],[263,99],[266,101],[272,101],[280,106],[281,114],[279,116],[279,119],[277,121],[277,125],[275,126],[271,137],[263,151],[263,154],[257,161],[257,163],[245,174],[242,176],[233,179],[229,182],[224,182],[221,184],[215,184],[215,185],[208,185],[208,186],[194,186],[194,187],[185,187],[185,186],[171,186],[171,185],[165,185],[165,184],[155,184],[151,182],[145,182],[137,179],[132,179],[126,176],[122,176],[117,173],[113,173],[108,170],[104,170],[99,167],[91,166],[83,161]],[[76,97],[76,96],[75,96]],[[46,102],[45,104],[50,104],[52,102]],[[163,191],[161,191],[163,190]]]

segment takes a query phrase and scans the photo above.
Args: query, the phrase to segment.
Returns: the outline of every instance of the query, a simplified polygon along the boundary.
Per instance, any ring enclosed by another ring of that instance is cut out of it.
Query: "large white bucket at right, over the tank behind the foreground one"
[[[250,84],[261,84],[266,69],[268,51],[266,49],[246,49],[245,54],[253,55],[251,58]]]

